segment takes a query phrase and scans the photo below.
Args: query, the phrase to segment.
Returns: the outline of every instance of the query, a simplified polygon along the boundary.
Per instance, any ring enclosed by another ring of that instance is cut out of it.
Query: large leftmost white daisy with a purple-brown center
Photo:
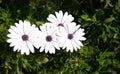
[[[15,23],[8,31],[10,34],[7,35],[7,42],[10,43],[10,47],[14,47],[13,51],[28,55],[30,51],[34,53],[34,47],[39,48],[39,29],[34,24],[31,26],[30,22],[19,20],[19,23]]]

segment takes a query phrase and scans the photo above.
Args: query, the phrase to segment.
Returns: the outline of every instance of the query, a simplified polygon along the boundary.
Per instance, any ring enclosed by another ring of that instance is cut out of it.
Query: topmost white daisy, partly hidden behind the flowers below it
[[[68,15],[68,12],[65,12],[65,14],[63,14],[62,11],[59,11],[55,12],[55,16],[53,14],[50,14],[47,20],[56,26],[64,27],[65,24],[72,22],[74,20],[74,17],[72,17],[72,15]]]

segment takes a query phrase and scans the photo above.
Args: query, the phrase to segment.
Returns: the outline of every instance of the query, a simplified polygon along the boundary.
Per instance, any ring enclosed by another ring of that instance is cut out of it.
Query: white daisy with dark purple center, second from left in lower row
[[[40,26],[40,52],[45,51],[45,53],[54,54],[55,49],[59,50],[59,45],[57,43],[56,27],[51,26],[51,23],[45,23]]]

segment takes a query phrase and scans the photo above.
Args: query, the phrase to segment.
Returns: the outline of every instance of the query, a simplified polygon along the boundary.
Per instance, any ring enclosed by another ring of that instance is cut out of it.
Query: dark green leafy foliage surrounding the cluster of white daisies
[[[84,46],[73,53],[21,55],[6,42],[19,20],[37,26],[62,10],[85,29]],[[0,0],[0,74],[119,74],[120,0]]]

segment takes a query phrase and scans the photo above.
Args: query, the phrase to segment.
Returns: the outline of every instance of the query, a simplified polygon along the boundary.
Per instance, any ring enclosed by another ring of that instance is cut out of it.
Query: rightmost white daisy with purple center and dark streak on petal
[[[80,25],[76,25],[76,23],[69,23],[66,25],[67,29],[64,27],[60,27],[58,32],[59,44],[63,49],[66,48],[67,51],[73,52],[73,50],[79,49],[83,46],[81,41],[86,40],[83,35],[84,29],[79,28]]]

